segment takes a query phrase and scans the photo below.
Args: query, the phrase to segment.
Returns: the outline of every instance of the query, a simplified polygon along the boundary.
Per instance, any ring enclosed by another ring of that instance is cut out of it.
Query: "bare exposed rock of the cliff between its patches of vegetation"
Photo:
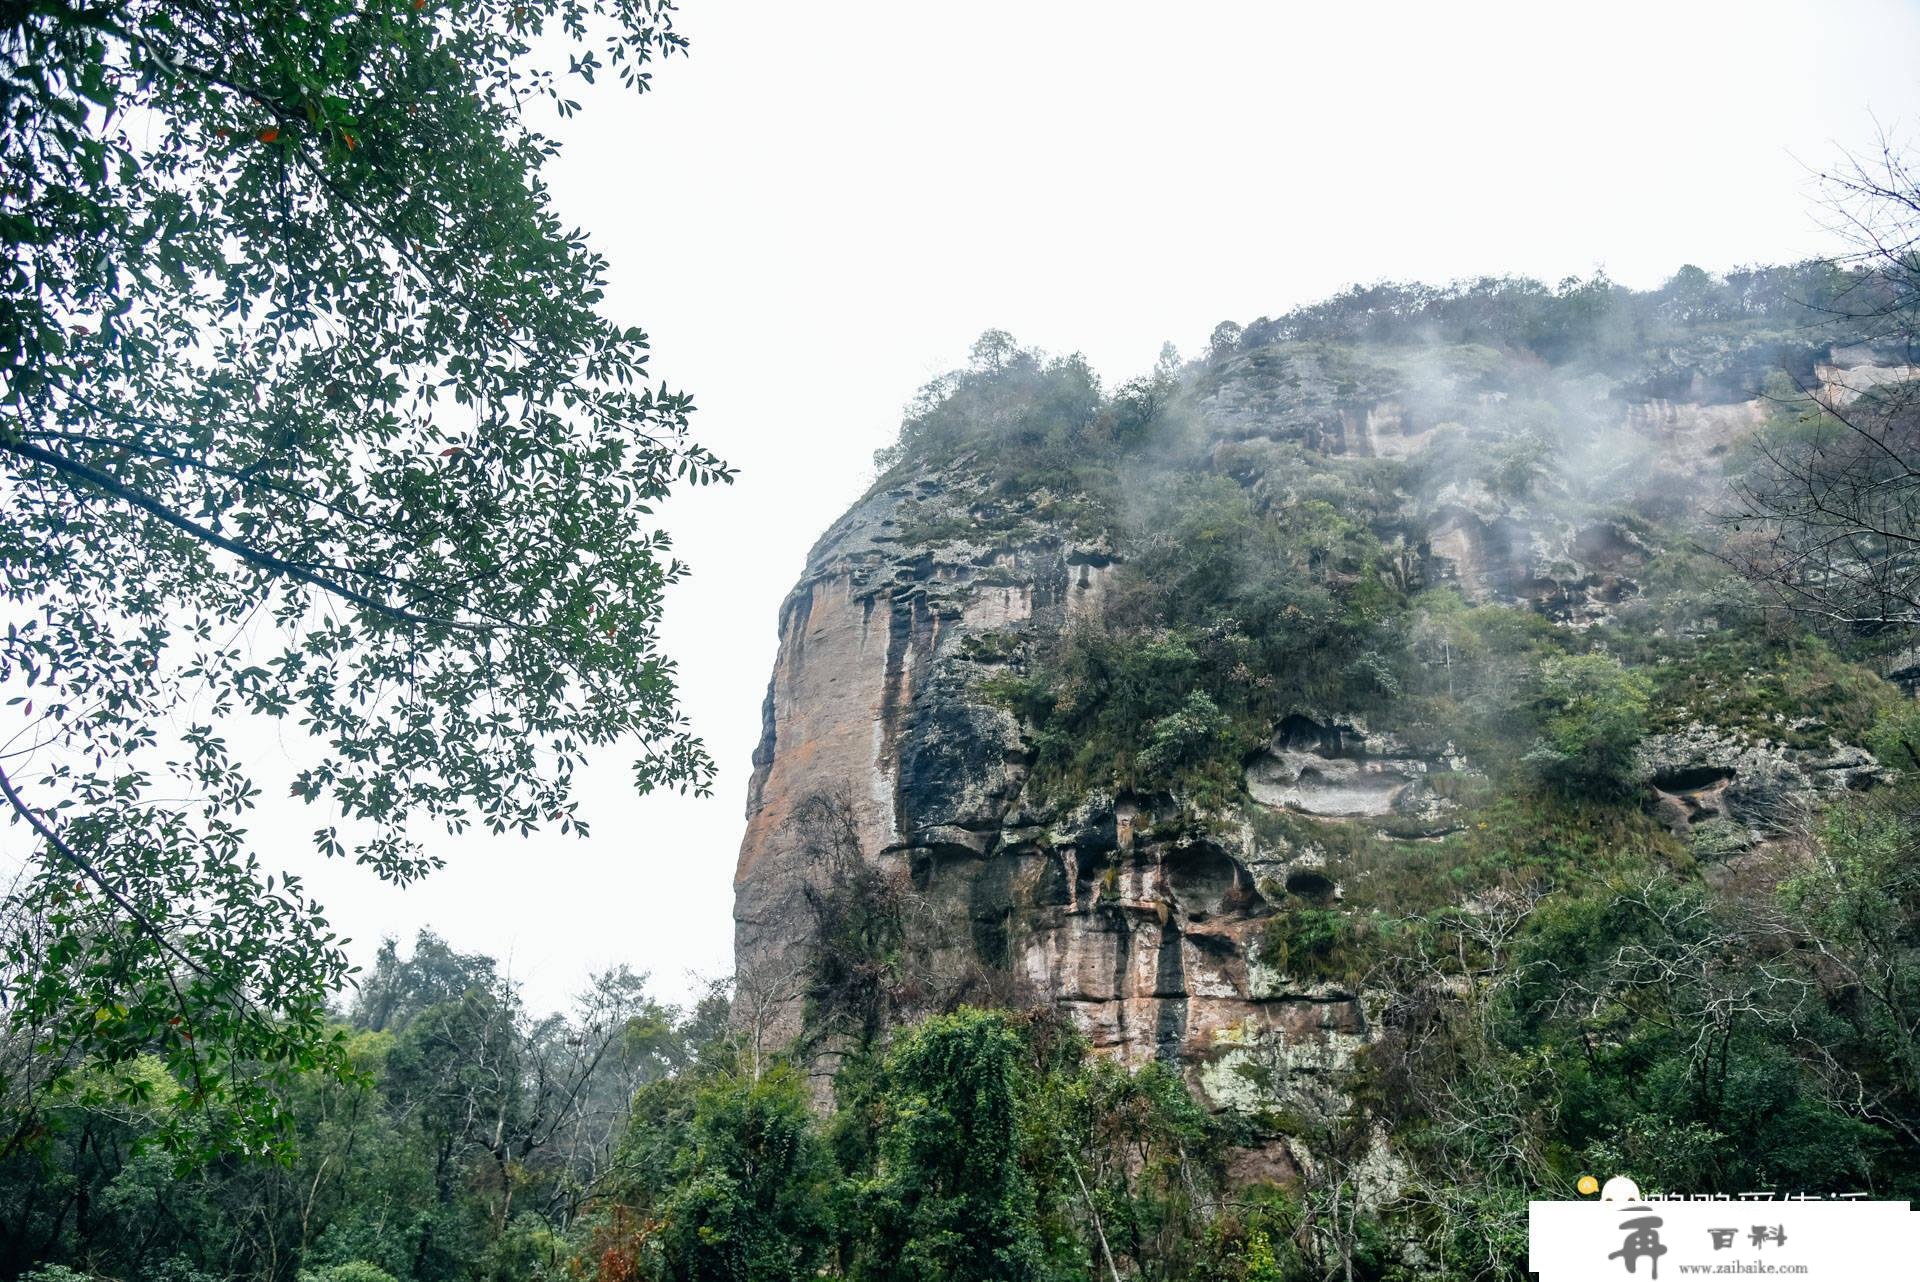
[[[1265,349],[1188,374],[1181,395],[1229,476],[1260,451],[1405,468],[1375,528],[1404,549],[1411,582],[1574,628],[1647,591],[1645,516],[1699,503],[1770,409],[1757,380],[1732,374],[1561,388],[1584,453],[1528,480],[1524,415],[1475,390],[1457,368],[1473,359],[1394,368],[1375,380],[1384,392],[1356,392],[1313,351]],[[1860,372],[1859,353],[1801,363]],[[1469,453],[1517,441],[1526,484],[1428,466],[1448,441]],[[1098,618],[1121,547],[1046,491],[998,499],[993,478],[987,457],[897,468],[820,539],[781,606],[735,875],[741,1004],[772,1040],[801,1029],[806,890],[822,871],[795,814],[837,793],[862,858],[910,879],[945,923],[939,971],[975,967],[1054,1002],[1096,1048],[1179,1065],[1219,1109],[1250,1107],[1260,1075],[1306,1088],[1369,1040],[1369,1000],[1284,973],[1261,940],[1279,912],[1338,904],[1340,887],[1311,848],[1260,825],[1194,835],[1165,825],[1152,798],[1031,795],[1023,727],[983,685],[1020,647]],[[1308,464],[1265,466],[1258,484],[1309,478]],[[1745,791],[1866,766],[1774,760],[1703,731],[1653,745],[1645,773],[1674,825],[1757,825]],[[1450,823],[1436,783],[1471,770],[1332,708],[1275,725],[1246,787],[1256,810],[1421,841]]]

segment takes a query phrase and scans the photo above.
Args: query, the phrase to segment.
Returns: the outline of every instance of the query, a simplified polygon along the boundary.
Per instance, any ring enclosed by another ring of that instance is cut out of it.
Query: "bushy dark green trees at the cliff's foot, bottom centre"
[[[789,1069],[755,1079],[724,1044],[682,1079],[645,1088],[634,1161],[589,1238],[609,1244],[589,1276],[1260,1276],[1244,1270],[1246,1219],[1221,1215],[1223,1127],[1175,1073],[1091,1057],[1052,1013],[927,1017],[845,1061],[835,1090],[839,1109],[814,1119]],[[641,1151],[676,1155],[641,1161]],[[758,1203],[732,1199],[714,1215],[716,1199],[701,1192],[712,1151],[758,1155]],[[760,1209],[780,1205],[791,1213]],[[1292,1203],[1263,1190],[1248,1205]],[[607,1224],[641,1228],[609,1236]],[[701,1270],[685,1269],[689,1236],[707,1251]],[[768,1249],[733,1249],[741,1242]]]

